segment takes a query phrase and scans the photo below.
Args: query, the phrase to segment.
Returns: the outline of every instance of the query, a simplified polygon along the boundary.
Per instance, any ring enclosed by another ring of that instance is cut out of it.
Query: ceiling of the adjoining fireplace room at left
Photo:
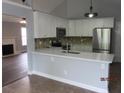
[[[17,18],[17,17],[9,16],[9,15],[2,15],[2,21],[3,22],[16,22],[16,23],[19,23],[20,21],[22,21],[22,18]]]

